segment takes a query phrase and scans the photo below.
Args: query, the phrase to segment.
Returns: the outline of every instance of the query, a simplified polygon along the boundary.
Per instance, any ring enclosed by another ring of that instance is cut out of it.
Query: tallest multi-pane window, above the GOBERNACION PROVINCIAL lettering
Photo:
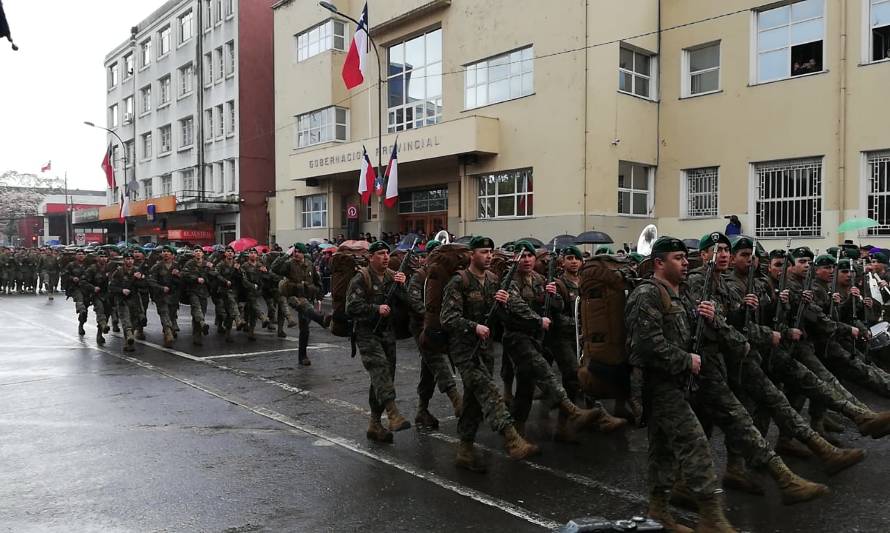
[[[389,48],[389,131],[442,120],[442,30],[418,35]]]

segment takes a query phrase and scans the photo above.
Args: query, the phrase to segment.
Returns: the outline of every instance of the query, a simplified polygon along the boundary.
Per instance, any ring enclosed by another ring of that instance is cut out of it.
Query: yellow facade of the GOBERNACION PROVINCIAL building
[[[364,2],[334,2],[358,18]],[[738,215],[778,246],[839,222],[890,233],[890,0],[370,0],[355,25],[275,6],[279,242],[445,228],[497,242],[654,223],[697,237]],[[399,153],[399,204],[361,205],[362,152]],[[271,202],[270,202],[271,204]]]

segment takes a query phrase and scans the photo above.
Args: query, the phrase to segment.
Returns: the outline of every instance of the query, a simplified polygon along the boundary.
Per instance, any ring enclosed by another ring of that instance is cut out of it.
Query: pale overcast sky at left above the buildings
[[[68,187],[103,189],[105,54],[164,0],[3,0],[13,52],[0,40],[0,173],[68,171]]]

